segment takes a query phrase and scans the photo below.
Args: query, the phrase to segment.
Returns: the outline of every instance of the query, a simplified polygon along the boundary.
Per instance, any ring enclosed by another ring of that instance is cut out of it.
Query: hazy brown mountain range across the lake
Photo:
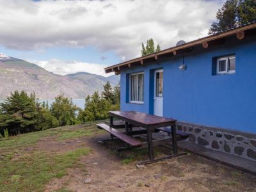
[[[120,77],[87,72],[61,76],[28,61],[0,54],[0,100],[14,90],[35,92],[39,99],[54,99],[61,93],[72,99],[84,99],[95,91],[102,92],[102,85],[107,81],[115,85]]]

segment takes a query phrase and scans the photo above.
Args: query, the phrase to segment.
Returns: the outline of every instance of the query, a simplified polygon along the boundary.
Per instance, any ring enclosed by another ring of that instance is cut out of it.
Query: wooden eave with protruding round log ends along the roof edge
[[[145,62],[143,62],[143,61],[156,61],[157,58],[159,58],[159,56],[164,56],[164,55],[168,55],[168,54],[170,56],[176,56],[177,52],[179,53],[182,51],[192,50],[193,47],[195,47],[196,45],[202,45],[204,48],[207,48],[207,47],[205,47],[205,45],[208,46],[208,44],[207,44],[208,42],[212,42],[215,40],[221,40],[227,36],[236,35],[237,39],[241,39],[241,38],[239,38],[239,36],[241,36],[241,33],[244,34],[244,31],[248,31],[250,29],[255,29],[255,28],[256,28],[256,22],[253,22],[252,24],[248,24],[246,26],[240,26],[238,28],[230,29],[228,31],[217,33],[215,35],[210,35],[210,36],[206,36],[204,38],[199,38],[198,40],[194,40],[194,41],[188,42],[183,45],[170,47],[168,49],[164,49],[163,51],[159,51],[159,52],[154,52],[153,54],[148,54],[147,56],[142,56],[140,58],[135,58],[133,60],[125,61],[123,63],[118,63],[116,65],[106,67],[106,68],[104,68],[104,70],[106,73],[115,72],[115,74],[120,74],[120,68],[144,65]]]

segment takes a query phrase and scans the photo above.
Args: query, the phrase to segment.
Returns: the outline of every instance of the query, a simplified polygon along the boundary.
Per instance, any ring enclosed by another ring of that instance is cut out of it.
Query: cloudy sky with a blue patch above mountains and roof
[[[91,72],[207,36],[223,0],[0,0],[0,52],[55,74]]]

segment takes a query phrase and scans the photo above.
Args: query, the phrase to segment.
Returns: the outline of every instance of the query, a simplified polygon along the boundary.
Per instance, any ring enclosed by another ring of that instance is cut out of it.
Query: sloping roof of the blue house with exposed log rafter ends
[[[190,52],[193,50],[193,47],[197,45],[202,45],[202,47],[207,49],[207,47],[209,46],[223,44],[227,36],[236,35],[238,40],[242,40],[244,36],[247,34],[255,35],[256,33],[255,31],[253,31],[254,29],[256,29],[256,21],[241,26],[237,26],[236,28],[228,29],[226,31],[221,31],[220,33],[215,33],[214,35],[198,38],[197,40],[193,40],[186,44],[170,47],[168,49],[164,49],[163,51],[154,52],[152,54],[148,54],[147,56],[141,56],[140,58],[135,58],[129,61],[118,63],[116,65],[111,65],[109,67],[104,68],[104,70],[106,73],[115,72],[115,74],[120,74],[120,69],[122,68],[144,65],[148,61],[156,61],[159,57],[162,56],[176,56],[180,53]]]

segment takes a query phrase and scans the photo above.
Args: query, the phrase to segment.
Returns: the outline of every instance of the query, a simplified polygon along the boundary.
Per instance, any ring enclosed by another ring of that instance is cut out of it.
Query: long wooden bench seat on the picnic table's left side
[[[109,127],[109,125],[97,124],[97,127],[99,129],[104,129],[104,130],[108,131],[110,134],[112,134],[116,138],[119,138],[120,140],[124,141],[125,143],[128,143],[132,147],[139,147],[143,144],[141,141],[138,141],[138,140],[132,138],[131,136],[127,136],[127,134],[124,134],[123,132],[119,132],[118,130],[116,130],[112,127]]]

